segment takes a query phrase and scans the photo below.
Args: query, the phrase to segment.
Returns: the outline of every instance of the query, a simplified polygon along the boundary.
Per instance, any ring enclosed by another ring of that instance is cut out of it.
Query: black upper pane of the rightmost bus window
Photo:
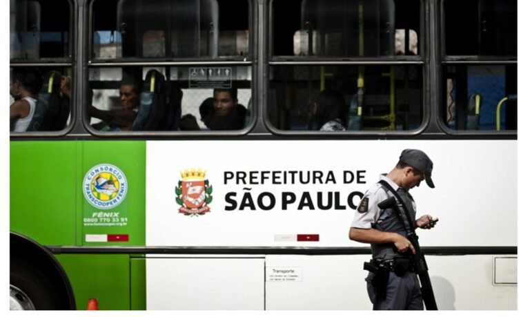
[[[516,0],[445,0],[446,55],[516,56]]]

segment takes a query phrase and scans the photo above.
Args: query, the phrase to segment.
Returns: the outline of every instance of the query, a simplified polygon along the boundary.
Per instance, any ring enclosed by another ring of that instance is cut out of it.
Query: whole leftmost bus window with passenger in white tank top
[[[10,0],[10,131],[70,124],[72,3]]]

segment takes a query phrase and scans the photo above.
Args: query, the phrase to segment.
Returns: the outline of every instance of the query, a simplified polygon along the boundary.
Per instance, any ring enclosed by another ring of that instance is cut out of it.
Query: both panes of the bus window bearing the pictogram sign
[[[94,1],[92,128],[242,130],[251,116],[250,12],[246,0]]]

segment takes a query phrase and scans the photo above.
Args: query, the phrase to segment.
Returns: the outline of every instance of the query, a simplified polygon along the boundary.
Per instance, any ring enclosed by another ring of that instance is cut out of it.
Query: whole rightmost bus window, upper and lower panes
[[[444,125],[517,131],[517,1],[445,0],[442,26]]]

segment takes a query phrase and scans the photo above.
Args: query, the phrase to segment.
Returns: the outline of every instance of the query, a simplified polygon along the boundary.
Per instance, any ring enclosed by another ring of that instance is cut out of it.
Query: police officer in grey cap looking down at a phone
[[[431,229],[431,215],[422,215],[416,219],[416,205],[409,190],[420,186],[422,180],[434,188],[431,173],[433,162],[420,150],[406,149],[392,171],[381,175],[379,182],[364,194],[350,228],[350,239],[370,243],[372,260],[366,277],[368,294],[373,309],[423,309],[422,295],[418,277],[413,271],[410,254],[415,249],[406,238],[403,222],[397,217],[393,208],[380,209],[377,204],[393,195],[392,189],[400,195],[409,211],[409,219],[414,222],[413,228]],[[409,224],[406,224],[409,226]],[[366,269],[366,265],[365,265]],[[377,273],[375,273],[377,272]]]

